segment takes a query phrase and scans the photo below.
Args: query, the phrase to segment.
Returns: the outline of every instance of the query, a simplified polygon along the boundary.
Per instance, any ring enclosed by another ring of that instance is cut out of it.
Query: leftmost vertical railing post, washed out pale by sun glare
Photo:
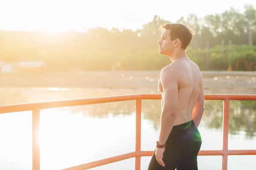
[[[40,170],[40,110],[32,111],[32,170]]]

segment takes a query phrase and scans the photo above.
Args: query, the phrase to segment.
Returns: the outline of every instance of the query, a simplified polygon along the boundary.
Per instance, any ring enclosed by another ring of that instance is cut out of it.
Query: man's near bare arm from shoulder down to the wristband
[[[162,114],[160,118],[159,144],[165,144],[176,119],[178,105],[178,76],[175,65],[169,65],[161,72],[160,79],[163,86]]]

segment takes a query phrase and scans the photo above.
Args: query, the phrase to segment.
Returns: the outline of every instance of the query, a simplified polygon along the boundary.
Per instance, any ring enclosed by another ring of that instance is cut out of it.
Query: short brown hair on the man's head
[[[171,40],[180,39],[181,48],[186,49],[189,43],[191,42],[195,32],[192,28],[189,28],[180,23],[166,23],[160,26],[160,29],[169,29],[171,30]]]

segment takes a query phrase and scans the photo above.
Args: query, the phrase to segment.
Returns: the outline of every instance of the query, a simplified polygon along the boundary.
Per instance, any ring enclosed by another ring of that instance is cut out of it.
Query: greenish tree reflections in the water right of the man
[[[255,136],[256,128],[256,108],[248,107],[255,101],[230,101],[229,113],[229,133],[239,134],[240,131],[246,132],[246,136],[251,138]],[[204,120],[206,127],[222,128],[223,102],[218,100],[206,101]]]

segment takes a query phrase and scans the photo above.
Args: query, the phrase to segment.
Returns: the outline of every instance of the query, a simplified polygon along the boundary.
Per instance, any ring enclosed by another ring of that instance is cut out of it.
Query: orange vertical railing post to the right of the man
[[[229,108],[230,108],[230,100],[225,99],[224,102],[223,102],[222,170],[227,170]]]

